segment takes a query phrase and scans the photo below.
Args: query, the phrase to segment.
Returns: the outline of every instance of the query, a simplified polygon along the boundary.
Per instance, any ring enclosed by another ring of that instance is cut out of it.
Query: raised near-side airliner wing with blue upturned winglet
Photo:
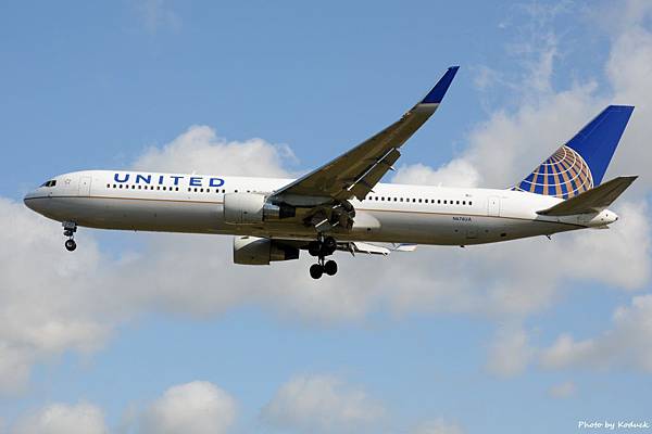
[[[426,98],[399,120],[330,163],[275,191],[273,196],[363,200],[399,159],[403,143],[435,113],[457,69],[459,66],[449,67]]]

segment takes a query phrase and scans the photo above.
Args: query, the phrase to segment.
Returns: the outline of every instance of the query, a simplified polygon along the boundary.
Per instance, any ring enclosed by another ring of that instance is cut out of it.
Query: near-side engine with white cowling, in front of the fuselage
[[[294,217],[292,206],[275,205],[261,193],[227,193],[224,195],[224,222],[255,225],[267,220]]]

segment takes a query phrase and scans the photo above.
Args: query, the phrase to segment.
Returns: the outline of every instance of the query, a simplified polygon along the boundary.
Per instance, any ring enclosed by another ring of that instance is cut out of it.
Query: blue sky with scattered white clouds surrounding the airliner
[[[0,433],[548,433],[648,421],[652,7],[3,2]],[[451,65],[385,181],[506,188],[636,105],[610,230],[242,267],[228,237],[80,229],[22,197],[82,169],[298,176]],[[597,429],[600,431],[601,429]],[[643,430],[644,431],[644,430]]]

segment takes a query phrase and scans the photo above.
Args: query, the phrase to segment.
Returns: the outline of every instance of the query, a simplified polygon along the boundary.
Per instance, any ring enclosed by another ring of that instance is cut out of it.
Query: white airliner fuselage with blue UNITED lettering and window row
[[[253,235],[314,240],[300,221],[229,225],[224,194],[272,193],[291,179],[88,170],[53,178],[25,196],[32,209],[78,226],[161,232]],[[334,229],[338,241],[466,245],[549,235],[601,227],[615,214],[547,217],[537,214],[561,202],[540,194],[493,189],[378,183],[355,208],[351,230]]]

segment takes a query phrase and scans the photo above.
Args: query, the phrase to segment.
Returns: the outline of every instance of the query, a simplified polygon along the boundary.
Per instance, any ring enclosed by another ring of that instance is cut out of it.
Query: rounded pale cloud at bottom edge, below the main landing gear
[[[283,431],[366,432],[385,417],[364,391],[330,375],[302,375],[284,384],[261,419]]]

